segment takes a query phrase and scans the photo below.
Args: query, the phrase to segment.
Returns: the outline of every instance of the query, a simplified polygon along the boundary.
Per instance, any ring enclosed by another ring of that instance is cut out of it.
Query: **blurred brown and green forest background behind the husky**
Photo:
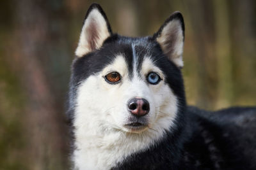
[[[125,36],[152,35],[181,11],[188,103],[207,110],[256,105],[254,0],[0,1],[1,170],[68,169],[70,64],[93,2]]]

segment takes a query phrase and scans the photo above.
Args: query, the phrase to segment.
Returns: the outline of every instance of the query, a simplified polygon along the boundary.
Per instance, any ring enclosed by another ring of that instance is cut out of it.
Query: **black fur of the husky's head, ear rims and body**
[[[98,4],[93,4],[92,8],[99,8],[104,14]],[[184,31],[180,13],[172,15],[164,25],[173,19],[180,20]],[[166,131],[161,141],[148,150],[130,155],[112,169],[256,169],[256,108],[204,111],[187,106],[182,73],[164,55],[156,41],[164,25],[154,36],[145,38],[111,34],[99,50],[74,60],[68,109],[71,122],[76,104],[76,87],[90,74],[101,71],[116,54],[125,54],[129,76],[132,77],[131,45],[134,44],[139,69],[143,56],[150,52],[156,65],[166,75],[165,83],[179,99],[179,113],[175,127],[172,127],[172,131]],[[109,24],[108,29],[111,32]]]

